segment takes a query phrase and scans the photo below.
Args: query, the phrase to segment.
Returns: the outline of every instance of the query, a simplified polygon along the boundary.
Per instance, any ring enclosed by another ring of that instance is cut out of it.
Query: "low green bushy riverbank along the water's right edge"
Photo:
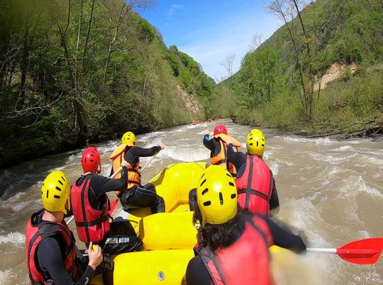
[[[304,121],[298,96],[284,91],[250,111],[238,111],[235,121],[311,137],[380,136],[383,134],[383,71],[355,76],[347,82],[331,82],[316,96],[313,110],[311,121]]]

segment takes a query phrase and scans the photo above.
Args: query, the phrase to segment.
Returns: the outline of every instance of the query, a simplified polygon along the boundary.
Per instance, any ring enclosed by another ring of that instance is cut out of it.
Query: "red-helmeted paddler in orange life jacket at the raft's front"
[[[213,131],[213,138],[209,138],[209,130],[204,130],[204,146],[210,150],[210,162],[212,165],[219,165],[227,169],[233,177],[236,177],[237,171],[235,166],[228,161],[227,141],[231,139],[234,150],[240,147],[240,142],[228,135],[225,125],[216,125]]]

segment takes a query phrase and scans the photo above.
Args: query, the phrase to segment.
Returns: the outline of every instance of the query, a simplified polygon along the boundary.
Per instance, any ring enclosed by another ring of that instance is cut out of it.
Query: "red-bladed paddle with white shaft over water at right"
[[[355,264],[374,264],[383,250],[383,238],[355,240],[338,248],[307,248],[307,252],[335,253]]]

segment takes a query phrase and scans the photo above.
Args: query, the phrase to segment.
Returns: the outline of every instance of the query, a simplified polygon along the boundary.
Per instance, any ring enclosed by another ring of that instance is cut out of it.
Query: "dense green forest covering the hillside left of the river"
[[[0,168],[209,113],[215,82],[135,13],[152,4],[0,0]]]

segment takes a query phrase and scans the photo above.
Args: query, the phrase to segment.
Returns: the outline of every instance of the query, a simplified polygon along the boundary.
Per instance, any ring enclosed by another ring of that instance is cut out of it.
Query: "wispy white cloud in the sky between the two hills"
[[[233,72],[238,72],[253,35],[262,33],[262,41],[265,41],[279,28],[278,23],[280,21],[271,14],[258,18],[237,15],[230,19],[222,19],[213,26],[185,34],[185,37],[193,38],[195,41],[189,45],[180,45],[178,48],[193,57],[202,65],[209,77],[219,82],[228,75],[221,62],[224,62],[228,55],[234,54]]]

